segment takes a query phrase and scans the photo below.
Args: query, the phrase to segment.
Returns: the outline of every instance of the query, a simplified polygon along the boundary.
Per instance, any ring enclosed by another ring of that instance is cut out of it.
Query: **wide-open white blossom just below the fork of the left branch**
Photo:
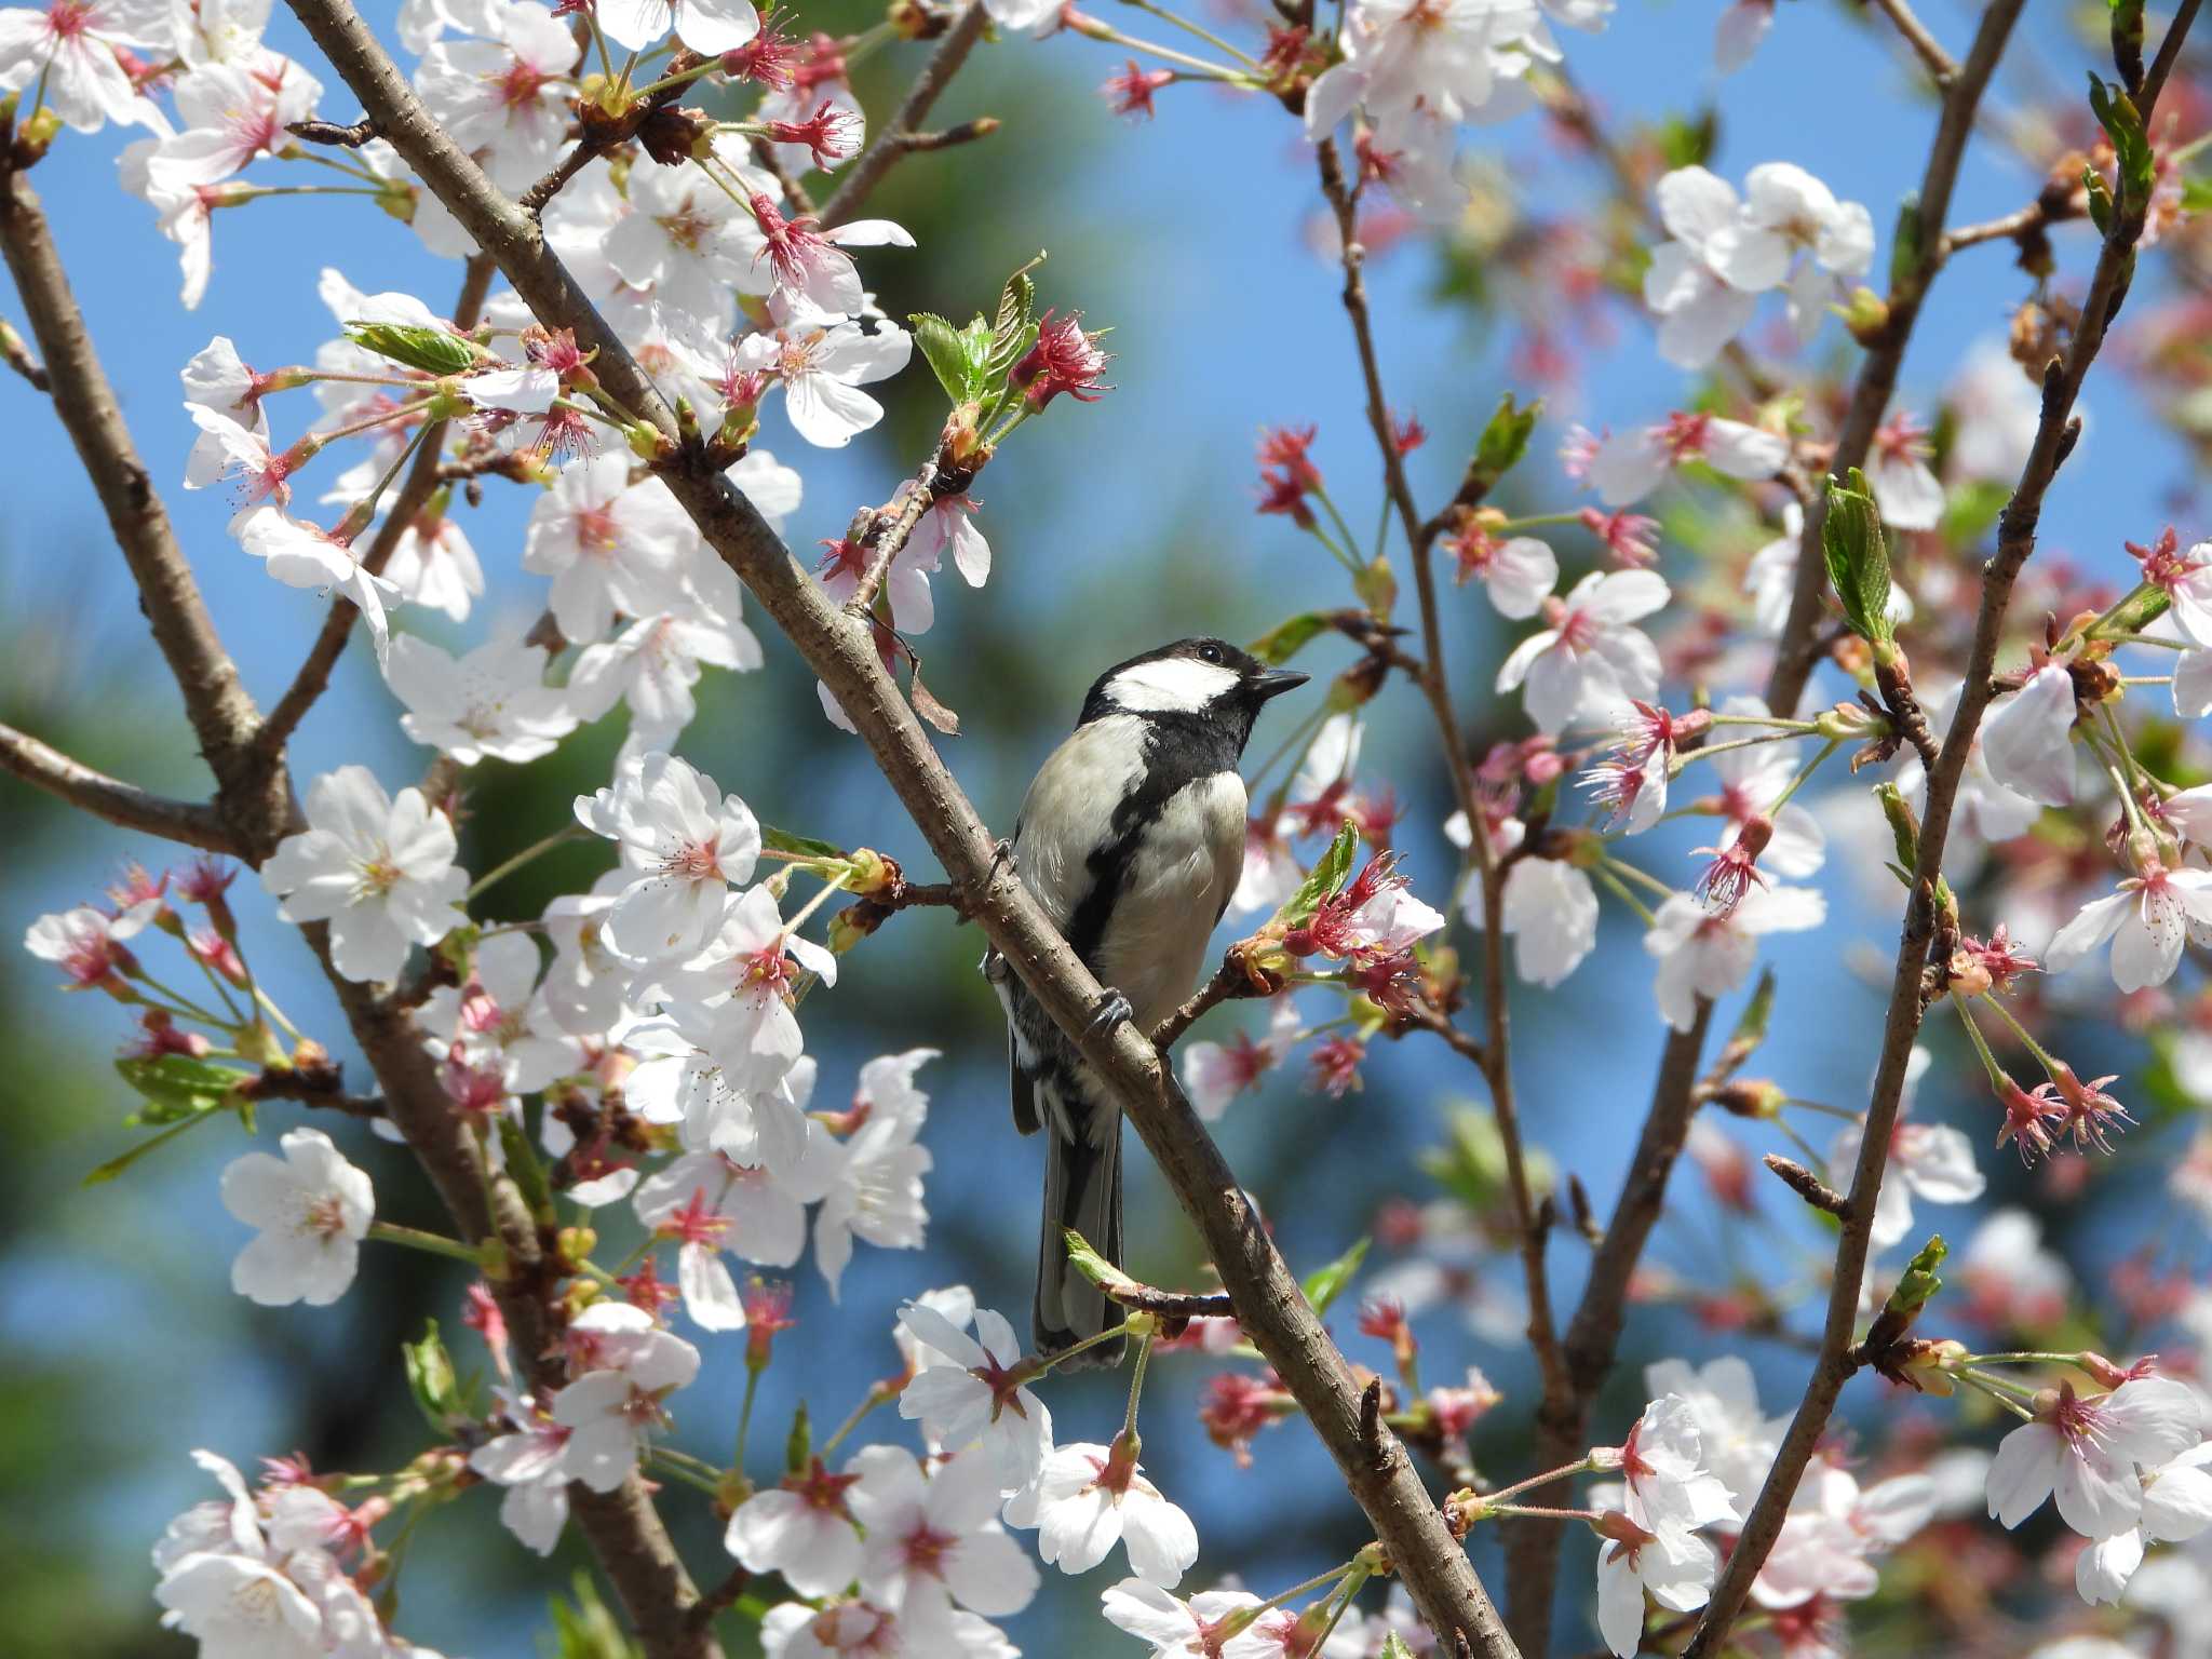
[[[307,790],[307,827],[276,845],[261,885],[288,922],[330,922],[338,973],[392,980],[409,945],[436,945],[469,920],[458,847],[453,821],[420,790],[394,799],[365,765],[341,765]]]

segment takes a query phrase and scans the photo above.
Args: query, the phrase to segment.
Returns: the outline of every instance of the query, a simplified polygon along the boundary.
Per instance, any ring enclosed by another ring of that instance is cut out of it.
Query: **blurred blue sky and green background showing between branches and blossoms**
[[[1887,44],[1863,27],[1856,7],[1796,0],[1781,9],[1754,71],[1725,88],[1725,115],[1701,133],[1717,91],[1708,64],[1714,11],[1688,0],[1624,0],[1608,35],[1566,40],[1571,64],[1615,119],[1652,126],[1674,119],[1670,142],[1710,137],[1714,166],[1730,177],[1770,157],[1803,161],[1838,195],[1869,201],[1876,223],[1887,226],[1898,192],[1918,175],[1933,119]],[[2026,53],[2070,82],[2086,51],[2059,11],[2068,9],[2053,7],[2053,15],[2035,22]],[[1931,22],[1951,38],[1964,38],[1969,13],[1942,0],[1929,7]],[[801,20],[843,29],[863,27],[872,13],[838,2],[805,7]],[[272,44],[305,51],[285,20]],[[918,58],[920,49],[900,46],[865,62],[856,80],[869,111],[894,104]],[[909,159],[874,201],[876,212],[905,223],[918,241],[916,252],[865,261],[894,316],[925,307],[964,316],[984,307],[1004,274],[1044,248],[1051,259],[1037,274],[1042,301],[1082,307],[1091,325],[1115,330],[1110,378],[1119,389],[1095,407],[1057,405],[984,473],[980,524],[998,555],[995,573],[982,593],[969,593],[945,571],[938,626],[920,639],[931,688],[964,723],[945,752],[984,814],[1002,825],[1104,664],[1186,633],[1254,637],[1290,611],[1343,602],[1336,571],[1316,549],[1281,520],[1252,515],[1250,451],[1259,425],[1318,420],[1316,458],[1347,515],[1365,524],[1378,507],[1356,367],[1336,307],[1338,276],[1314,252],[1316,197],[1294,126],[1265,100],[1172,88],[1155,124],[1130,128],[1093,95],[1117,66],[1073,38],[987,46],[938,115],[953,122],[991,113],[1004,128],[973,148]],[[352,108],[336,91],[323,113],[343,119]],[[1522,201],[1542,201],[1548,215],[1595,201],[1584,157],[1537,119],[1475,133],[1471,146],[1486,179],[1511,179]],[[201,312],[186,316],[170,301],[170,248],[150,215],[115,190],[113,150],[113,135],[69,137],[35,181],[51,201],[139,445],[164,484],[179,476],[190,442],[175,407],[175,369],[210,334],[237,338],[252,363],[303,361],[332,332],[312,296],[319,265],[336,265],[369,290],[407,288],[434,305],[458,281],[453,268],[425,257],[400,226],[352,212],[356,204],[259,204],[219,217],[215,288]],[[2002,212],[2033,188],[2033,173],[2002,146],[1978,146],[1958,217]],[[1513,199],[1489,190],[1449,246],[1429,250],[1411,241],[1380,257],[1374,270],[1391,398],[1400,411],[1418,411],[1433,434],[1413,456],[1425,500],[1449,489],[1498,392],[1526,385],[1515,378],[1524,363],[1513,356],[1515,345],[1526,345],[1524,332],[1502,314],[1515,301],[1511,274],[1491,257],[1515,226]],[[2079,248],[2062,246],[2062,257],[2068,254]],[[2002,327],[2015,290],[2000,252],[1960,261],[1947,274],[1907,369],[1922,407],[1969,341]],[[7,310],[11,296],[0,299],[0,312]],[[1683,396],[1679,376],[1652,358],[1648,334],[1626,312],[1599,316],[1595,332],[1568,349],[1582,358],[1579,374],[1548,387],[1551,416],[1515,478],[1520,507],[1562,504],[1564,482],[1551,451],[1568,416],[1593,427],[1650,418]],[[1847,356],[1834,332],[1812,361],[1823,354]],[[889,394],[891,416],[849,451],[805,451],[770,416],[763,442],[807,480],[807,504],[787,526],[801,555],[814,538],[838,535],[856,502],[883,500],[933,442],[942,409],[920,365],[878,392]],[[2079,471],[2053,498],[2046,533],[2055,549],[2070,544],[2108,557],[2119,535],[2143,533],[2159,504],[2188,500],[2194,487],[2183,482],[2181,447],[2106,372],[2097,376],[2093,405],[2090,442]],[[276,418],[301,416],[279,405]],[[0,575],[11,595],[0,615],[0,719],[148,787],[201,790],[184,721],[91,495],[46,409],[13,378],[0,383],[0,429],[9,500]],[[2097,491],[2086,489],[2088,469]],[[248,684],[268,703],[290,677],[321,602],[270,584],[226,542],[223,502],[175,491],[170,502]],[[2121,518],[2112,518],[2112,502],[2128,502]],[[495,489],[465,515],[493,573],[478,619],[465,630],[445,630],[436,617],[407,624],[451,644],[456,633],[480,637],[487,619],[526,622],[538,599],[533,580],[515,571],[524,511],[520,491]],[[1670,531],[1728,535],[1734,546],[1763,540],[1750,524],[1717,531],[1688,513]],[[1562,540],[1562,560],[1575,557],[1582,544]],[[1668,557],[1668,575],[1688,588],[1694,573],[1679,546]],[[1486,695],[1495,633],[1473,591],[1453,595],[1451,633],[1455,661],[1464,664],[1460,692],[1471,741],[1520,734],[1517,712]],[[765,644],[765,672],[706,681],[684,752],[741,792],[763,821],[874,845],[931,876],[863,750],[823,723],[803,666],[774,637]],[[1340,666],[1325,650],[1314,650],[1312,666]],[[1444,785],[1425,719],[1402,688],[1369,714],[1363,770],[1387,779],[1407,805],[1407,867],[1427,896],[1442,900],[1453,865],[1438,834]],[[1270,730],[1254,752],[1270,748]],[[467,781],[465,863],[491,869],[564,821],[577,792],[606,781],[617,743],[619,730],[602,723],[526,770],[478,768]],[[307,721],[296,759],[303,774],[363,759],[396,787],[420,772],[427,754],[403,739],[389,695],[356,653]],[[11,938],[38,914],[93,896],[122,860],[164,858],[157,845],[73,818],[13,783],[4,787]],[[1648,865],[1670,876],[1688,869],[1668,860],[1694,838],[1694,832],[1655,838]],[[604,867],[597,845],[566,845],[502,880],[482,914],[535,918],[549,898],[588,885]],[[1843,869],[1829,874],[1838,925],[1776,942],[1772,958],[1783,989],[1774,1035],[1754,1071],[1785,1077],[1794,1093],[1849,1104],[1871,1071],[1876,1000],[1865,960],[1854,960],[1845,942],[1867,940],[1887,951],[1893,902],[1876,887],[1867,889],[1876,900],[1869,905]],[[239,885],[237,900],[257,971],[303,1029],[349,1060],[352,1079],[363,1084],[312,962],[248,887]],[[1601,1210],[1641,1119],[1659,1046],[1632,922],[1608,914],[1606,927],[1599,956],[1559,993],[1524,993],[1515,1006],[1531,1133],[1588,1186]],[[973,929],[942,914],[902,916],[847,958],[834,991],[807,1002],[807,1042],[821,1055],[818,1106],[838,1104],[869,1055],[922,1044],[945,1053],[922,1073],[933,1097],[925,1137],[936,1155],[931,1234],[925,1254],[863,1248],[841,1305],[832,1305],[812,1261],[801,1265],[801,1323],[781,1338],[763,1383],[757,1447],[781,1444],[801,1398],[816,1425],[830,1425],[872,1378],[896,1369],[889,1325],[902,1296],[967,1281],[987,1305],[1026,1305],[1040,1152],[1009,1133],[1004,1037],[973,973],[978,953]],[[438,1318],[462,1365],[476,1365],[480,1347],[458,1329],[465,1279],[425,1256],[372,1252],[352,1294],[330,1310],[263,1312],[232,1296],[228,1259],[243,1230],[221,1212],[215,1177],[241,1150],[234,1126],[186,1137],[119,1183],[80,1188],[88,1168],[126,1144],[119,1117],[128,1099],[108,1068],[126,1020],[95,998],[64,1002],[49,978],[44,964],[20,951],[0,953],[0,1048],[9,1055],[0,1082],[9,1130],[9,1152],[0,1159],[7,1347],[0,1489],[11,1498],[0,1506],[4,1646],[73,1659],[166,1659],[184,1644],[155,1628],[146,1546],[175,1511],[208,1495],[188,1449],[212,1447],[248,1467],[259,1455],[290,1451],[319,1469],[394,1467],[422,1444],[396,1365],[400,1340],[418,1334],[425,1318]],[[1732,1015],[1725,1009],[1723,1022]],[[1250,1020],[1252,1011],[1214,1015],[1212,1033],[1225,1033],[1239,1018]],[[2130,1057],[2119,1033],[2084,1033],[2081,1051],[2093,1071],[2117,1071]],[[1953,1079],[1971,1104],[1951,1097]],[[1922,1091],[1920,1110],[1980,1113],[1969,1121],[1982,1124],[1986,1113],[1973,1088],[1971,1062],[1944,1062]],[[1383,1051],[1365,1091],[1340,1102],[1307,1093],[1294,1071],[1283,1073],[1261,1099],[1234,1108],[1221,1137],[1303,1272],[1369,1232],[1387,1206],[1438,1197],[1420,1155],[1442,1141],[1453,1106],[1480,1106],[1475,1075],[1440,1046],[1407,1044]],[[296,1117],[292,1106],[268,1108],[263,1139]],[[356,1124],[323,1126],[372,1170],[383,1214],[438,1223],[396,1148]],[[2099,1214],[2157,1181],[2157,1146],[2130,1137],[2112,1179],[2099,1188]],[[2166,1141],[2168,1155],[2172,1148]],[[1752,1150],[1770,1150],[1770,1141],[1752,1137]],[[1995,1159],[1986,1168],[1991,1201],[2026,1199],[2055,1221],[2066,1219],[2055,1243],[2088,1283],[2110,1270],[2106,1234],[2073,1225],[2068,1194],[2031,1188]],[[1141,1159],[1130,1188],[1133,1265],[1155,1281],[1197,1283],[1192,1237]],[[1705,1294],[1725,1294],[1739,1283],[1803,1283],[1814,1263],[1807,1252],[1818,1248],[1818,1232],[1794,1206],[1770,1199],[1759,1217],[1730,1217],[1686,1166],[1652,1259]],[[1369,1272],[1387,1261],[1385,1245]],[[1562,1243],[1555,1263],[1557,1294],[1568,1298],[1582,1276],[1579,1245]],[[1480,1365],[1504,1389],[1506,1405],[1475,1433],[1475,1455],[1486,1471],[1520,1473],[1531,1367],[1522,1343],[1509,1336],[1517,1285],[1482,1267],[1473,1290],[1480,1296],[1469,1305],[1491,1310],[1480,1321],[1458,1318],[1449,1305],[1418,1321],[1427,1378],[1451,1383]],[[1352,1301],[1340,1305],[1336,1325],[1349,1332]],[[1745,1352],[1772,1409],[1794,1398],[1803,1356],[1792,1340],[1747,1338],[1714,1325],[1666,1310],[1639,1312],[1595,1416],[1599,1436],[1626,1425],[1644,1398],[1641,1363],[1663,1354]],[[1358,1358],[1385,1365],[1378,1345],[1360,1338],[1349,1345]],[[743,1369],[734,1340],[703,1347],[703,1380],[675,1402],[679,1444],[719,1460],[728,1455]],[[1210,1360],[1179,1358],[1155,1369],[1146,1394],[1146,1462],[1188,1504],[1206,1544],[1197,1582],[1237,1571],[1265,1593],[1349,1555],[1360,1544],[1356,1509],[1338,1500],[1327,1460],[1301,1427],[1267,1431],[1250,1471],[1208,1444],[1194,1400],[1212,1369]],[[1053,1396],[1062,1436],[1102,1436],[1117,1411],[1119,1385],[1119,1378],[1062,1385]],[[1876,1405],[1874,1394],[1863,1387],[1851,1405],[1865,1411]],[[902,1433],[889,1413],[876,1427]],[[400,1628],[451,1655],[546,1652],[553,1628],[546,1597],[566,1590],[584,1555],[571,1537],[555,1562],[538,1562],[495,1528],[493,1506],[495,1493],[480,1491],[422,1528],[400,1575]],[[703,1504],[672,1491],[666,1506],[692,1571],[703,1582],[719,1577],[719,1528]],[[1571,1540],[1568,1548],[1564,1597],[1582,1608],[1588,1542]],[[1493,1546],[1478,1540],[1475,1555],[1495,1584]],[[1046,1593],[1011,1621],[1011,1635],[1035,1655],[1121,1650],[1128,1644],[1095,1619],[1099,1582],[1046,1575]],[[571,1628],[602,1626],[584,1613]],[[1880,1610],[1863,1617],[1860,1630],[1871,1637],[1863,1644],[1869,1652],[1916,1650],[1911,1632],[1887,1630]]]

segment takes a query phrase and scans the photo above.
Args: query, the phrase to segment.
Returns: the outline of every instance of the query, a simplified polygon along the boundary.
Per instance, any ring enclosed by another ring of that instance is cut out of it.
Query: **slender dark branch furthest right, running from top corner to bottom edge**
[[[2197,20],[2199,0],[2183,0],[2157,64],[2143,82],[2143,124],[2157,104],[2166,73],[2181,51],[2181,38]],[[1927,807],[1920,814],[1920,858],[1916,865],[1913,894],[1905,905],[1905,927],[1898,942],[1898,967],[1889,982],[1889,1013],[1882,1024],[1882,1057],[1874,1073],[1874,1091],[1867,1102],[1867,1128],[1860,1137],[1858,1166],[1851,1170],[1849,1217],[1836,1243],[1836,1276],[1827,1296],[1827,1323],[1820,1332],[1820,1358],[1805,1398],[1790,1420],[1774,1467],[1765,1486],[1752,1504],[1728,1568],[1714,1584],[1705,1617],[1683,1650],[1686,1659],[1705,1659],[1723,1648],[1730,1626],[1743,1610],[1752,1579],[1765,1564],[1774,1540],[1781,1535],[1790,1500],[1796,1495],[1805,1464],[1812,1460],[1820,1436],[1827,1433],[1829,1413],[1843,1385],[1858,1369],[1851,1354],[1851,1332],[1858,1325],[1858,1298],[1871,1254],[1874,1206],[1882,1190],[1882,1172],[1889,1164],[1889,1139],[1898,1121],[1898,1102],[1905,1093],[1905,1068],[1911,1060],[1913,1040],[1920,1035],[1924,1009],[1922,982],[1927,971],[1929,940],[1938,931],[1936,880],[1942,874],[1944,845],[1951,834],[1951,810],[1958,803],[1960,779],[1966,774],[1966,757],[1973,750],[1982,712],[1991,699],[1991,672],[1997,666],[1997,644],[2004,635],[2004,613],[2013,597],[2013,582],[2020,566],[2035,551],[2035,529],[2042,518],[2044,493],[2057,476],[2059,465],[2073,449],[2079,434],[2075,400],[2081,380],[2104,345],[2106,327],[2126,299],[2128,276],[2135,268],[2135,246],[2141,241],[2141,217],[2115,219],[2097,254],[2097,270],[2090,276],[2088,294],[2081,301],[2081,325],[2068,345],[2064,361],[2053,361],[2044,374],[2044,407],[2037,420],[2035,442],[2028,449],[2026,467],[2013,500],[1997,520],[1997,553],[1982,568],[1982,608],[1975,615],[1973,648],[1966,657],[1966,675],[1958,695],[1958,710],[1951,714],[1951,730],[1944,734],[1942,754],[1929,772]]]

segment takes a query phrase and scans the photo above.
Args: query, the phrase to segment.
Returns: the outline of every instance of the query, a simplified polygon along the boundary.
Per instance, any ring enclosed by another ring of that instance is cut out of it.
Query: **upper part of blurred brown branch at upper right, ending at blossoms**
[[[1905,363],[1905,347],[1920,319],[1920,301],[1944,261],[1942,221],[1951,212],[1951,186],[1958,184],[1958,164],[1966,155],[1966,139],[1973,137],[1973,113],[1982,104],[1982,93],[1997,69],[1997,58],[2004,55],[2004,44],[2011,40],[2024,4],[2026,0],[1991,0],[1964,66],[1947,84],[1936,139],[1929,144],[1927,170],[1920,175],[1918,257],[1889,283],[1889,319],[1867,349],[1867,361],[1858,365],[1851,407],[1843,416],[1836,456],[1829,462],[1836,478],[1849,473],[1851,467],[1867,465],[1874,434],[1898,387],[1898,367]],[[1805,533],[1798,538],[1790,619],[1783,624],[1783,644],[1776,646],[1774,672],[1767,677],[1767,708],[1776,714],[1796,712],[1805,681],[1812,679],[1812,670],[1820,661],[1816,624],[1820,599],[1827,593],[1827,562],[1820,557],[1820,522],[1825,518],[1827,495],[1814,495],[1805,504]]]

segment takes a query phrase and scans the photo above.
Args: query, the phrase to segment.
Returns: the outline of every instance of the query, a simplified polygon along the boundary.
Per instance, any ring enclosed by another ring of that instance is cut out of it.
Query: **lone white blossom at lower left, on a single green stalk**
[[[354,1283],[376,1194],[323,1130],[294,1128],[279,1146],[281,1159],[248,1152],[223,1170],[223,1208],[259,1228],[230,1287],[263,1307],[327,1307]]]

